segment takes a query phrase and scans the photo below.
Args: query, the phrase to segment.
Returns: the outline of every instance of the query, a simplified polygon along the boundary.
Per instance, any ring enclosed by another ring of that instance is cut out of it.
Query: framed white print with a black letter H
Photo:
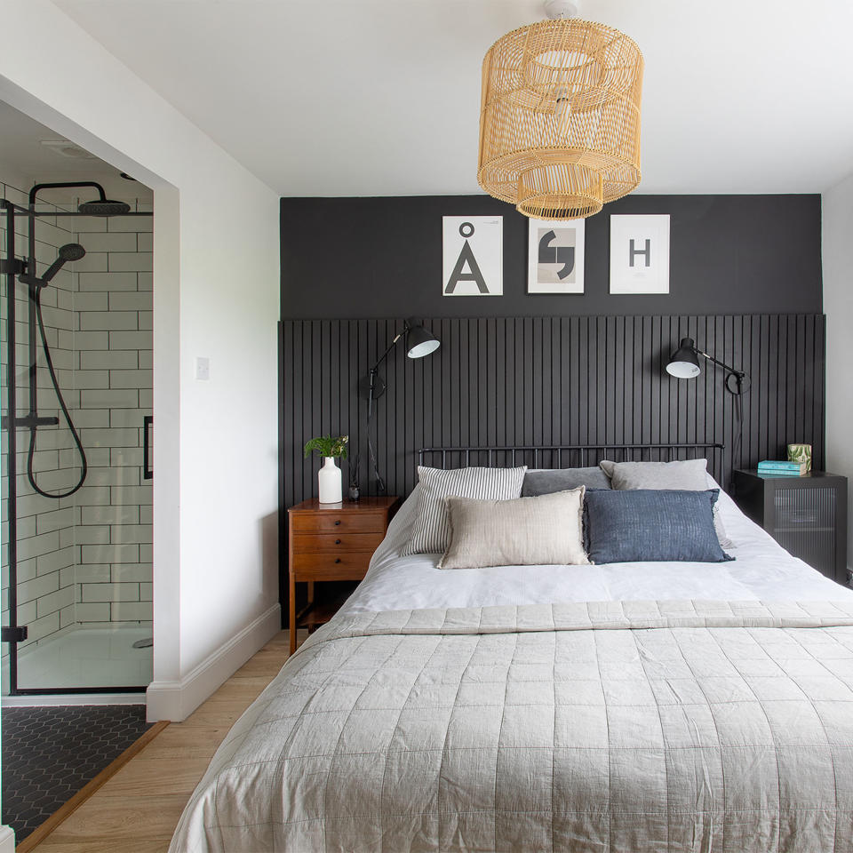
[[[669,214],[610,217],[610,292],[669,292]]]

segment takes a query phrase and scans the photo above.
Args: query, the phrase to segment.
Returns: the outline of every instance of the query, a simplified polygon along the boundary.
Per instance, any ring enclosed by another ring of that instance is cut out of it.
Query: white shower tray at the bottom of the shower
[[[154,655],[133,643],[151,637],[150,625],[76,627],[18,654],[20,690],[140,687],[153,679]],[[8,692],[8,658],[3,666]]]

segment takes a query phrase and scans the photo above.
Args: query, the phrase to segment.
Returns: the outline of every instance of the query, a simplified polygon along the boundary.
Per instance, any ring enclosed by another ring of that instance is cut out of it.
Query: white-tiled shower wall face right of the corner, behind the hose
[[[76,422],[89,475],[76,498],[76,621],[152,618],[151,481],[142,419],[151,414],[151,217],[78,219]]]

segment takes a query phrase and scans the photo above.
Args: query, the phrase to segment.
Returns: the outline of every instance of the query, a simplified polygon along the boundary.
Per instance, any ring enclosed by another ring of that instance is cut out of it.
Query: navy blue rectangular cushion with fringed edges
[[[586,493],[586,552],[602,562],[732,560],[713,529],[719,489],[594,490]]]

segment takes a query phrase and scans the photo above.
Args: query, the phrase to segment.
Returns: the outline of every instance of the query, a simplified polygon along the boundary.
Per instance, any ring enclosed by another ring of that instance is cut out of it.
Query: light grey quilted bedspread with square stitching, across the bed
[[[338,617],[235,723],[177,851],[853,851],[853,608]]]

